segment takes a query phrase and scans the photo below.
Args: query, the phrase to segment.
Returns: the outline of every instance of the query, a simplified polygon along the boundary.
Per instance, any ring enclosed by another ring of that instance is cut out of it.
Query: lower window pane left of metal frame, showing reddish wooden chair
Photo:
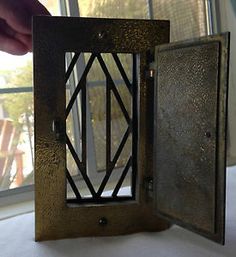
[[[32,93],[0,95],[0,190],[33,183],[32,99]]]

